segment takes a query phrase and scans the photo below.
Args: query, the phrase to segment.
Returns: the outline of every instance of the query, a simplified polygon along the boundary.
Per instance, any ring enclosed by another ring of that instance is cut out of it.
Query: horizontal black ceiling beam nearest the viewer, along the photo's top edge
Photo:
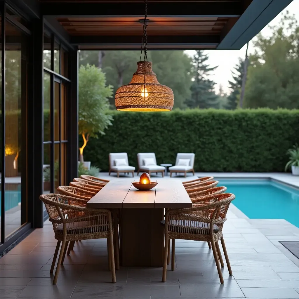
[[[77,16],[144,16],[144,3],[41,3],[41,11],[45,16],[77,17]],[[242,14],[241,2],[165,2],[149,3],[148,17],[155,16],[198,16],[198,17],[239,17]]]

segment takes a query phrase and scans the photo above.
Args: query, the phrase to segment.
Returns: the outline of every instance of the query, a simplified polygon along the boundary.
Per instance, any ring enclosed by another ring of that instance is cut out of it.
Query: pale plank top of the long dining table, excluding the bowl
[[[147,191],[137,190],[133,179],[109,181],[88,202],[88,208],[191,208],[192,202],[179,179],[157,179]]]

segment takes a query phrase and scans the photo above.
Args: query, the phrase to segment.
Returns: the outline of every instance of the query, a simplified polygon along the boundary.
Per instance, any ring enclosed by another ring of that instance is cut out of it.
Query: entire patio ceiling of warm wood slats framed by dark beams
[[[149,0],[148,48],[240,49],[292,0]],[[143,0],[41,0],[46,24],[80,49],[139,49]]]

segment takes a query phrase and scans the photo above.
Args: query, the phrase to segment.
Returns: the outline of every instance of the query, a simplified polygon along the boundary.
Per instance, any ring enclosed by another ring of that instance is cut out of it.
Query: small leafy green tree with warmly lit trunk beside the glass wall
[[[109,110],[109,97],[113,86],[106,86],[106,76],[94,65],[81,65],[79,69],[79,134],[83,145],[80,150],[80,162],[83,162],[83,150],[90,137],[104,135],[104,130],[111,126],[112,116]]]

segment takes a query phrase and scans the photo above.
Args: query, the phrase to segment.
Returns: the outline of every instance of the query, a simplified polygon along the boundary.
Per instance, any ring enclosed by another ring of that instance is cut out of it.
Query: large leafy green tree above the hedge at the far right
[[[244,106],[299,108],[299,26],[294,15],[284,15],[271,35],[259,33],[251,55]]]

